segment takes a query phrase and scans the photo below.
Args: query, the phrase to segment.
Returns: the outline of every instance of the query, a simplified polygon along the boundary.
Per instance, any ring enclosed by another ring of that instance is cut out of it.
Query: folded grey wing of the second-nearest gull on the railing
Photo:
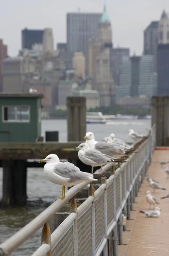
[[[105,156],[99,150],[87,150],[85,151],[85,157],[94,161],[95,163],[105,163],[110,162],[112,159],[110,157]]]

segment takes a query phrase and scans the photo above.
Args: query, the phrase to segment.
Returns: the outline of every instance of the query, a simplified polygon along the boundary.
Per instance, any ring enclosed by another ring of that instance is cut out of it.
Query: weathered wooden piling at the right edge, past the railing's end
[[[169,96],[152,97],[152,125],[156,125],[156,145],[169,145]]]

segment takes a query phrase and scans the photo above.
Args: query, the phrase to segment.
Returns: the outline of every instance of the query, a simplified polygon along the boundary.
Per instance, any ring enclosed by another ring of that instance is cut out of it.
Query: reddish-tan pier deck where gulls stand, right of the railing
[[[168,150],[155,150],[152,163],[149,166],[147,175],[157,180],[167,190],[153,189],[144,179],[135,198],[134,210],[131,211],[131,220],[127,221],[127,231],[124,232],[124,245],[118,246],[118,256],[168,256],[169,255],[169,198],[160,199],[169,193],[169,178],[158,161],[169,160]],[[146,191],[150,190],[152,195],[160,202],[161,216],[159,218],[147,218],[139,210],[149,210],[146,202]]]

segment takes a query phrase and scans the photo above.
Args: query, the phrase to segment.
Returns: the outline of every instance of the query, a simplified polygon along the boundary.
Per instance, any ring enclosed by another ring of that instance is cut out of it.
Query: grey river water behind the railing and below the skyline
[[[142,134],[147,134],[146,128],[150,128],[150,120],[114,120],[110,125],[87,124],[87,131],[95,134],[96,140],[102,140],[110,133],[115,137],[132,141],[127,134],[129,129],[133,129]],[[59,131],[59,142],[67,141],[66,120],[42,120],[42,136],[45,131]],[[85,134],[84,134],[85,136]],[[2,176],[0,169],[0,198],[2,197]],[[0,243],[16,233],[20,228],[28,224],[48,205],[60,196],[61,186],[57,186],[46,180],[42,168],[30,168],[27,174],[27,195],[28,205],[23,208],[0,210]],[[13,256],[31,255],[40,246],[41,230],[37,231],[28,241],[26,241],[17,251],[11,253]]]

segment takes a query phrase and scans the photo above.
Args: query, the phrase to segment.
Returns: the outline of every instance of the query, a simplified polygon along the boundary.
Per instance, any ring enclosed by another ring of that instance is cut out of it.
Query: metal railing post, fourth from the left
[[[106,179],[104,183],[107,183]],[[104,189],[104,236],[107,239],[107,187]],[[103,256],[108,256],[108,243],[105,244],[103,249]]]

